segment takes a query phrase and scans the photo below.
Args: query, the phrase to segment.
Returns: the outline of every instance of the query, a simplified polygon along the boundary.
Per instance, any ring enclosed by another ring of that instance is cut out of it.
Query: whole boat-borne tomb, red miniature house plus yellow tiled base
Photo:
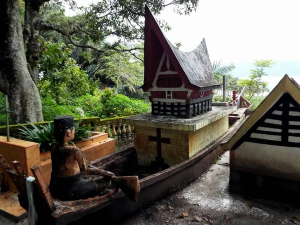
[[[124,118],[134,125],[139,165],[158,170],[203,150],[228,130],[236,107],[211,106],[214,80],[204,39],[181,52],[163,35],[145,8],[145,71],[142,89],[150,92],[151,113]]]

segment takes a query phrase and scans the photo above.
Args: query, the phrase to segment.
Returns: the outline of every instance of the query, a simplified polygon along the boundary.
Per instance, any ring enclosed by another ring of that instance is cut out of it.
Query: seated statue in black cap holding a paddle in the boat
[[[113,181],[120,184],[120,189],[125,194],[127,194],[125,190],[128,190],[130,196],[127,195],[132,201],[137,200],[139,193],[137,176],[115,176],[109,171],[90,168],[83,152],[76,146],[68,144],[74,138],[73,116],[56,117],[53,123],[56,142],[51,146],[52,172],[49,189],[52,196],[61,200],[93,197],[109,187]]]

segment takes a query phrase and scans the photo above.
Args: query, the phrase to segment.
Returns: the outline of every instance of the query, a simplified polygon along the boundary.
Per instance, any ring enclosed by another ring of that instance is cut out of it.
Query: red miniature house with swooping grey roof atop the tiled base
[[[152,114],[186,117],[211,110],[214,80],[204,38],[190,52],[182,52],[164,36],[145,7],[143,91],[149,91]]]

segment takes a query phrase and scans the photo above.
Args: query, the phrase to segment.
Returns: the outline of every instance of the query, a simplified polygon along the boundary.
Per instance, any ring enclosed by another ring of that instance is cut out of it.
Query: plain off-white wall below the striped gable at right
[[[265,134],[259,135],[261,138],[269,139],[264,136]],[[234,156],[230,157],[230,167],[233,169],[300,181],[300,148],[298,147],[245,141],[231,152]]]

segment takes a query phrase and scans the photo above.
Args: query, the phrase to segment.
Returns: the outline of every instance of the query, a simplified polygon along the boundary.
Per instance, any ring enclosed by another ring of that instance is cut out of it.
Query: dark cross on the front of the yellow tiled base
[[[161,129],[156,128],[156,136],[148,136],[148,140],[155,141],[157,148],[155,161],[151,162],[152,169],[156,172],[168,168],[168,164],[164,163],[164,159],[161,157],[161,143],[170,144],[170,138],[161,137]]]

